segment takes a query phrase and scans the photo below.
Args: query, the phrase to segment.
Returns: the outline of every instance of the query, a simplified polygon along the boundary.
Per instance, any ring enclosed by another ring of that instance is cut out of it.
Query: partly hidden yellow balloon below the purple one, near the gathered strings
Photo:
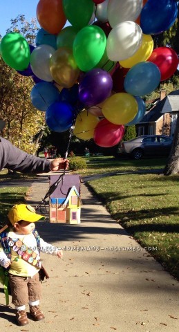
[[[77,115],[73,133],[82,140],[90,140],[94,136],[94,130],[99,119],[92,116],[86,109]]]

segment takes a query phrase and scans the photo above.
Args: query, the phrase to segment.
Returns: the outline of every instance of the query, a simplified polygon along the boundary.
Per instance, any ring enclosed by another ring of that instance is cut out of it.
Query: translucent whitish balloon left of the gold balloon
[[[50,45],[41,44],[32,50],[30,66],[32,72],[41,80],[53,81],[50,73],[50,57],[55,53],[55,48]]]

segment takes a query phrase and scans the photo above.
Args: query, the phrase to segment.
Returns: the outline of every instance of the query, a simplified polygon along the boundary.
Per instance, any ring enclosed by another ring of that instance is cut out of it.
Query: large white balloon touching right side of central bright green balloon
[[[117,24],[107,38],[106,52],[111,61],[131,57],[142,44],[142,29],[133,21]]]

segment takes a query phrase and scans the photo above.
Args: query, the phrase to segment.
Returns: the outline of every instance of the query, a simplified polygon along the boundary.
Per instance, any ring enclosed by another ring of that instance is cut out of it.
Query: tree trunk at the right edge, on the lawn
[[[173,136],[173,144],[167,165],[164,167],[164,175],[179,173],[179,113],[176,120],[176,129]]]

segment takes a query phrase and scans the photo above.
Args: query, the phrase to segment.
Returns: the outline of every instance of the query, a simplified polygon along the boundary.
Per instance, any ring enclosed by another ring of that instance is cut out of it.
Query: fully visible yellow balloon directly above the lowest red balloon
[[[102,113],[109,122],[126,124],[138,113],[138,102],[129,93],[115,93],[104,102]]]

